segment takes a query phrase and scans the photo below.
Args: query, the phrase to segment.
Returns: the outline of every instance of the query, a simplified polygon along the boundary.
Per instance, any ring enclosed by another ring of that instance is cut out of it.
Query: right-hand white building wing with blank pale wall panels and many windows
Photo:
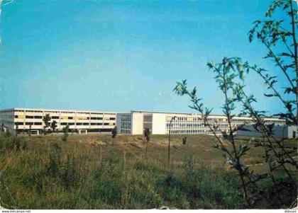
[[[285,120],[265,118],[268,123],[285,125]],[[172,121],[172,123],[171,123]],[[217,125],[217,134],[221,131],[229,132],[228,121],[224,115],[209,115],[209,123]],[[232,125],[250,124],[251,117],[233,117]],[[116,125],[119,134],[143,134],[143,129],[149,128],[152,134],[212,134],[209,127],[204,125],[201,114],[160,113],[131,111],[131,113],[117,113]]]

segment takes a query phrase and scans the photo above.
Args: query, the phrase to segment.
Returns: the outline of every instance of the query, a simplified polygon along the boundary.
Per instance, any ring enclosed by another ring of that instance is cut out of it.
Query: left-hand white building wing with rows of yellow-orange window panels
[[[111,132],[116,126],[116,113],[79,111],[79,110],[45,110],[31,108],[12,108],[0,110],[0,125],[4,125],[13,134],[40,134],[45,127],[43,117],[50,115],[50,125],[55,120],[56,130],[70,125],[72,132]],[[50,129],[50,128],[48,128]]]

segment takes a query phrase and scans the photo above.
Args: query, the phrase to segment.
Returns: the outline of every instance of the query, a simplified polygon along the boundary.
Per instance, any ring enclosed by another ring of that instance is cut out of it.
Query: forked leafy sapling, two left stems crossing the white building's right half
[[[251,180],[252,178],[250,178],[250,175],[252,175],[252,173],[248,171],[247,166],[245,166],[245,164],[241,160],[241,157],[246,154],[249,148],[245,145],[241,145],[238,147],[236,146],[234,132],[236,132],[237,128],[234,129],[231,124],[231,120],[235,116],[232,112],[235,109],[234,103],[236,102],[236,99],[228,96],[228,93],[231,93],[231,89],[233,88],[233,81],[237,76],[235,70],[237,69],[240,76],[243,76],[243,64],[238,58],[224,58],[222,63],[209,63],[208,67],[216,73],[216,82],[219,84],[219,88],[224,95],[225,101],[222,108],[223,114],[226,115],[228,120],[227,132],[226,130],[223,131],[220,129],[222,134],[216,134],[216,130],[219,129],[219,127],[216,125],[211,125],[208,120],[208,116],[210,115],[212,110],[209,108],[204,108],[204,104],[201,102],[202,99],[197,98],[197,88],[193,88],[192,91],[188,91],[187,81],[184,80],[182,82],[177,82],[177,86],[174,88],[174,91],[180,96],[189,96],[190,100],[192,101],[192,105],[190,105],[189,107],[197,110],[199,113],[202,113],[204,125],[209,127],[209,129],[211,129],[211,132],[216,137],[215,147],[217,149],[221,149],[224,152],[227,163],[232,168],[235,168],[235,170],[238,172],[238,175],[241,178],[243,197],[245,198],[248,207],[251,207],[252,199],[248,197],[248,184],[245,178]],[[228,134],[227,139],[223,139],[224,134]],[[226,141],[230,142],[232,146],[231,148],[225,145]]]

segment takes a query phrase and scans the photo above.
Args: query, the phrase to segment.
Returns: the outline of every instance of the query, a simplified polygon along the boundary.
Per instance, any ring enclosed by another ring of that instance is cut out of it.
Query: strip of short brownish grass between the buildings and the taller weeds
[[[60,135],[31,137],[28,142],[30,144],[33,143],[33,146],[37,146],[37,144],[43,146],[45,144],[62,142],[60,137]],[[214,137],[209,135],[189,135],[187,136],[187,144],[182,145],[183,137],[184,135],[171,136],[171,161],[174,165],[182,163],[183,154],[194,154],[200,163],[212,166],[223,166],[225,159],[223,158],[221,151],[214,149],[214,144],[212,143]],[[247,139],[244,141],[248,142]],[[75,149],[75,147],[87,145],[90,151],[92,151],[92,155],[96,155],[96,153],[99,154],[99,147],[101,147],[103,157],[105,157],[112,148],[122,152],[126,151],[126,154],[136,158],[145,157],[145,142],[141,135],[118,135],[115,146],[113,147],[111,144],[111,136],[108,134],[71,134],[69,143],[63,145],[65,145],[65,150],[71,150]],[[167,136],[151,136],[150,143],[148,144],[148,158],[167,163],[167,146]],[[262,161],[262,155],[262,148],[251,147],[249,155],[245,158],[245,163],[260,163]]]

